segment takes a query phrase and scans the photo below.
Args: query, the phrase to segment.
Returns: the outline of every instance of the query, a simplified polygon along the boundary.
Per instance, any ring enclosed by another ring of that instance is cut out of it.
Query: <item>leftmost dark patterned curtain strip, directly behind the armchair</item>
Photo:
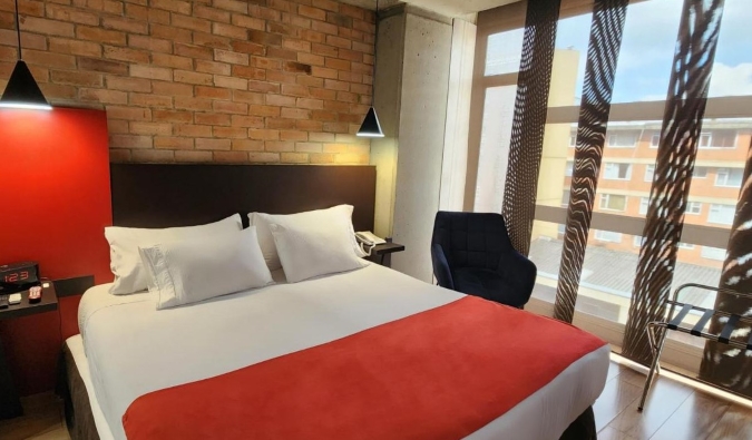
[[[515,248],[527,255],[535,217],[560,0],[528,0],[517,80],[509,169],[501,212]]]

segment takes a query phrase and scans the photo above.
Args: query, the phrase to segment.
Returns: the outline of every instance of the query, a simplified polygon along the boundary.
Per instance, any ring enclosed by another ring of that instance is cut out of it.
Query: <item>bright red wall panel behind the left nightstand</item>
[[[111,281],[105,111],[0,109],[0,201],[1,263],[36,261],[52,280],[94,274],[96,283]],[[64,305],[66,336],[76,309]],[[53,388],[61,329],[58,312],[0,321],[21,394]]]

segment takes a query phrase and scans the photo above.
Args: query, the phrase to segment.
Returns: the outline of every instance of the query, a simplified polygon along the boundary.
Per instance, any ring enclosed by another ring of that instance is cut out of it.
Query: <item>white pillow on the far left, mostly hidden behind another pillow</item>
[[[243,229],[243,221],[240,214],[201,226],[169,227],[166,229],[106,227],[105,237],[109,242],[109,267],[115,274],[115,282],[109,289],[109,293],[127,295],[146,290],[148,277],[138,255],[139,246],[241,229]]]

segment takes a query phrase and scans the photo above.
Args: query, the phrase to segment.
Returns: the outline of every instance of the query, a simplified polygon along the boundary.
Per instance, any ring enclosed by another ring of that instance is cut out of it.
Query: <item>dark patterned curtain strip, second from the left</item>
[[[572,322],[575,313],[628,3],[629,0],[596,0],[593,10],[577,125],[575,168],[554,310],[554,317],[566,322]]]

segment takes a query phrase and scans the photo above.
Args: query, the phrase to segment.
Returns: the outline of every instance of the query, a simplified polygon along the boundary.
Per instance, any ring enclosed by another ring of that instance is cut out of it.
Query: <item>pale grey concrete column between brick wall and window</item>
[[[380,16],[374,99],[385,138],[371,144],[378,175],[375,232],[407,247],[394,254],[393,268],[431,282],[452,25],[406,4]]]

